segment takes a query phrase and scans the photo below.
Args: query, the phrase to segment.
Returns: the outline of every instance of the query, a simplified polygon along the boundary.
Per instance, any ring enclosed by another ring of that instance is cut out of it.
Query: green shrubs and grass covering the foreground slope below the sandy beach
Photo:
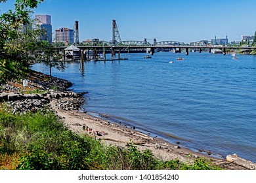
[[[106,146],[88,135],[77,135],[50,109],[11,114],[0,108],[0,169],[219,169],[211,160],[164,161],[150,150]]]

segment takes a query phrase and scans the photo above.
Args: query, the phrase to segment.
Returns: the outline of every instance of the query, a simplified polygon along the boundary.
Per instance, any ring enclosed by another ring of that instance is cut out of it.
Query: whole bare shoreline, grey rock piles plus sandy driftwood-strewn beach
[[[28,86],[22,86],[18,82],[9,82],[5,86],[1,86],[0,103],[5,102],[12,108],[11,112],[18,114],[35,112],[45,108],[55,110],[58,116],[63,119],[64,124],[76,133],[96,134],[98,139],[107,144],[125,146],[127,142],[132,140],[139,148],[148,148],[162,158],[165,156],[165,158],[179,158],[183,161],[188,159],[188,155],[211,158],[211,156],[193,152],[177,144],[169,144],[161,139],[149,137],[135,129],[111,124],[101,118],[85,114],[85,112],[78,112],[80,106],[85,103],[84,93],[72,92],[68,90],[70,86],[72,83],[68,80],[49,77],[32,71],[28,75]],[[35,90],[38,93],[31,93]],[[96,131],[95,129],[99,130]],[[239,165],[237,162],[241,161],[237,161],[238,157],[230,159],[228,158],[228,161],[215,159],[214,161],[224,169],[256,169],[255,163],[251,161],[243,160],[243,164]]]

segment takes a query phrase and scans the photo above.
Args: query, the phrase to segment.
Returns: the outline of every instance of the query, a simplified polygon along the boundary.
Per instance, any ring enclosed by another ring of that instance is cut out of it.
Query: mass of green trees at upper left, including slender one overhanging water
[[[64,70],[58,50],[47,41],[37,41],[45,31],[35,27],[32,9],[43,0],[16,0],[14,10],[0,14],[0,84],[26,78],[30,65],[41,61],[51,69]],[[0,4],[7,0],[0,0]],[[1,9],[0,9],[1,11]]]

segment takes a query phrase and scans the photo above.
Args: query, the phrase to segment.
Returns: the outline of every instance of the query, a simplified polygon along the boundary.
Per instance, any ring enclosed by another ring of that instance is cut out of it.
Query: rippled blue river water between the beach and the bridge
[[[79,62],[69,62],[64,73],[53,69],[53,76],[73,82],[74,92],[88,92],[86,111],[109,114],[181,146],[256,162],[256,56],[144,56],[85,62],[84,73]],[[180,56],[185,60],[176,60]],[[32,69],[49,73],[41,64]]]

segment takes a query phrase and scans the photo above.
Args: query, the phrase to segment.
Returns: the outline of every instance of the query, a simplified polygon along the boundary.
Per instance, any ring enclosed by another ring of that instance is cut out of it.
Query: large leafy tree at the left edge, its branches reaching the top
[[[8,0],[0,0],[6,3]],[[18,31],[20,26],[31,23],[30,13],[43,0],[16,0],[14,10],[9,10],[0,15],[0,84],[11,78],[18,78],[28,70],[28,38]],[[33,33],[32,33],[33,35]],[[21,42],[20,42],[21,41]],[[29,42],[31,42],[30,40]]]

